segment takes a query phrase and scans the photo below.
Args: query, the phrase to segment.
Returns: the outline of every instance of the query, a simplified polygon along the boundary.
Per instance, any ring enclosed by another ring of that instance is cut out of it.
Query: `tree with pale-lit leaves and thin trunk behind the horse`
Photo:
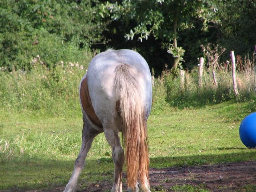
[[[147,40],[150,35],[161,39],[162,48],[174,57],[172,70],[182,68],[181,61],[185,50],[178,46],[179,32],[194,27],[200,20],[202,30],[208,24],[218,23],[216,4],[212,0],[123,0],[107,2],[102,5],[102,17],[110,16],[112,20],[135,22],[136,26],[126,34],[127,40]]]

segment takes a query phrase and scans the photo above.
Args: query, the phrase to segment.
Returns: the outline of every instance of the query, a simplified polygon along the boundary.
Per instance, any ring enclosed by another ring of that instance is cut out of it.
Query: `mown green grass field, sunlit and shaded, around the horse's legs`
[[[254,107],[250,102],[224,102],[154,110],[148,119],[150,167],[256,160],[256,150],[243,145],[238,131],[241,120]],[[81,132],[79,111],[65,117],[1,115],[0,190],[64,186],[81,146]],[[100,134],[80,179],[84,185],[112,180],[113,168],[111,148]]]

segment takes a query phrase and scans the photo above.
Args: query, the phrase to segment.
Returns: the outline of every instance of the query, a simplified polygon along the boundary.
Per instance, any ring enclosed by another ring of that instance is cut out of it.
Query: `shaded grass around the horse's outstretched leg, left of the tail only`
[[[12,192],[44,188],[43,191],[49,191],[56,186],[65,186],[69,181],[75,162],[75,158],[60,160],[26,155],[10,159],[1,157],[0,159],[0,191]],[[89,182],[100,180],[105,177],[102,174],[111,175],[113,168],[114,165],[108,158],[87,160],[87,165],[85,165],[80,178]]]

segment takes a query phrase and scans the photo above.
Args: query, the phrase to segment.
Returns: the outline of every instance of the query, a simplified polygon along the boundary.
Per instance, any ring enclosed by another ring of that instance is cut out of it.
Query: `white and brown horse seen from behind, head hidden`
[[[79,85],[82,146],[64,192],[75,191],[92,141],[102,132],[115,164],[111,192],[122,191],[124,162],[127,190],[137,192],[141,187],[150,192],[147,119],[152,103],[151,79],[146,60],[135,51],[110,49],[92,58]]]

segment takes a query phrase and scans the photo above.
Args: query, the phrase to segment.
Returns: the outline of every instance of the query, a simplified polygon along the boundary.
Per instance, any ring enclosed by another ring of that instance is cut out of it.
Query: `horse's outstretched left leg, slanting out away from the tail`
[[[84,125],[83,125],[83,132],[82,132],[82,146],[79,152],[79,155],[75,161],[75,167],[73,173],[70,177],[69,183],[66,185],[64,192],[73,192],[76,189],[77,180],[79,174],[81,173],[82,169],[84,168],[85,158],[89,149],[91,148],[91,143],[94,137],[100,133],[94,128],[90,126],[87,120],[83,117]]]

